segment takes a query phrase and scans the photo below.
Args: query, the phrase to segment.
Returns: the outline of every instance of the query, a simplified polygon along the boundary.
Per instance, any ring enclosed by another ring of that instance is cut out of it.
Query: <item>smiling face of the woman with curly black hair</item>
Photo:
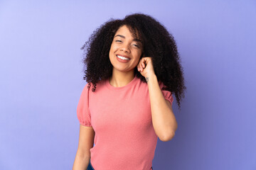
[[[121,26],[115,33],[110,47],[113,71],[134,72],[141,56],[142,43],[132,36],[127,26]]]

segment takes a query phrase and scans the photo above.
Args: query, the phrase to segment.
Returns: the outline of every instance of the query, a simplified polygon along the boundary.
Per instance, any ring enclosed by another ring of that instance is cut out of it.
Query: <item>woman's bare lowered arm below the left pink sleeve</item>
[[[90,149],[93,147],[95,131],[92,127],[80,125],[78,151],[73,170],[85,170],[90,162]]]

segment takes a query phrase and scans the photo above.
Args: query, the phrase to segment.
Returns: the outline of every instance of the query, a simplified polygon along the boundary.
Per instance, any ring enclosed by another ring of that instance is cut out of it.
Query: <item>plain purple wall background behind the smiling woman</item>
[[[0,1],[0,169],[71,169],[82,47],[142,12],[174,35],[186,98],[153,168],[256,169],[255,1]]]

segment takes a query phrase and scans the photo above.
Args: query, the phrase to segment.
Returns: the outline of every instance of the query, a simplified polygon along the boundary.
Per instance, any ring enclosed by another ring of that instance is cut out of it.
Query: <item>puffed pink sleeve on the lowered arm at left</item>
[[[81,125],[90,126],[91,124],[91,115],[89,111],[89,103],[88,103],[88,93],[89,89],[87,89],[88,84],[85,85],[84,89],[82,89],[82,94],[80,95],[80,99],[78,101],[77,115],[78,120]]]

